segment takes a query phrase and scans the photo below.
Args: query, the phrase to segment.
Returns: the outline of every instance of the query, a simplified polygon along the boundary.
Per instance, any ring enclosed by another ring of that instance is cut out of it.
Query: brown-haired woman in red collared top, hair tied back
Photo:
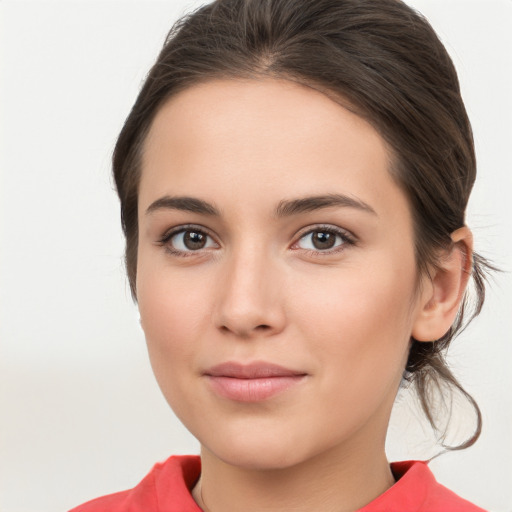
[[[463,393],[443,352],[488,267],[457,75],[396,0],[218,0],[179,21],[119,136],[131,290],[201,443],[96,510],[481,510],[389,464],[397,390]],[[437,393],[437,394],[436,394]]]

